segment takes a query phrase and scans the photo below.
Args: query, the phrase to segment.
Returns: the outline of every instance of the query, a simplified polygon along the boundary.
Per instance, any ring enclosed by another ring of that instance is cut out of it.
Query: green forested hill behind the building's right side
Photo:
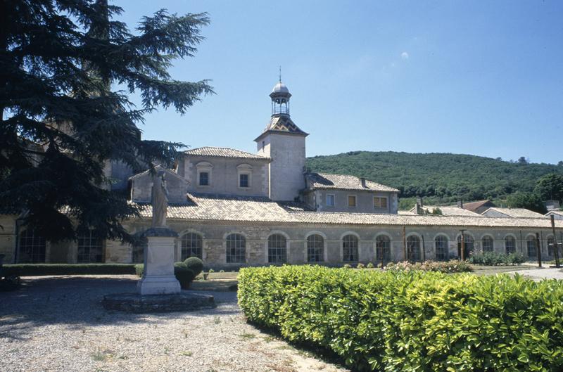
[[[352,151],[308,158],[313,172],[353,174],[398,188],[401,198],[424,196],[426,203],[504,200],[517,191],[533,191],[548,173],[563,174],[559,165],[507,162],[475,155]],[[412,204],[405,200],[402,207]]]

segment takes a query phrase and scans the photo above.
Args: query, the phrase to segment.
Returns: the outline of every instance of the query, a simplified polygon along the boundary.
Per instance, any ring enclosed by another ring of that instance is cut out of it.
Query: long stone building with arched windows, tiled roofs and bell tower
[[[418,205],[398,211],[398,190],[342,174],[308,172],[308,134],[290,116],[291,94],[281,81],[270,94],[272,115],[255,138],[256,153],[233,148],[187,150],[175,169],[162,169],[169,192],[168,226],[179,233],[176,259],[201,257],[206,267],[320,263],[341,265],[404,259],[452,259],[467,250],[544,256],[554,240],[550,219],[515,214],[483,200],[465,207]],[[125,222],[141,234],[151,224],[151,175],[130,174],[108,163],[115,186],[129,187],[141,218]],[[487,212],[479,214],[479,208]],[[436,208],[441,214],[432,214]],[[494,212],[494,213],[493,213]],[[18,225],[18,214],[0,217],[0,253],[5,262],[141,262],[143,245],[96,238],[49,243]],[[563,221],[556,221],[563,240]],[[538,234],[539,239],[536,239]]]

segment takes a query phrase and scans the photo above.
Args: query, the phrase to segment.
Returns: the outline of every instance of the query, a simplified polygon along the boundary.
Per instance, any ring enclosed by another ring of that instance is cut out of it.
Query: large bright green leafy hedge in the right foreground
[[[355,371],[563,371],[563,283],[326,267],[241,269],[250,321]]]

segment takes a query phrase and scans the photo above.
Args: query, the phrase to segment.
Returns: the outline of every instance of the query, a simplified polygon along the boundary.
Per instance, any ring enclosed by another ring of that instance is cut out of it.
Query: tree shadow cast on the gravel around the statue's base
[[[195,312],[132,314],[103,309],[101,300],[110,293],[136,291],[136,276],[48,276],[23,278],[22,286],[0,293],[0,338],[25,339],[34,326],[66,324],[69,327],[104,326],[116,323],[158,323],[182,316],[239,314],[236,292],[207,292],[215,297],[216,309]]]

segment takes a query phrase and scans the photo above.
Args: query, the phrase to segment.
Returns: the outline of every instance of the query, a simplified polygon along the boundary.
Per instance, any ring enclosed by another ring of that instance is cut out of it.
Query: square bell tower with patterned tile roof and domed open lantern
[[[254,141],[258,154],[272,158],[270,162],[270,198],[272,200],[295,200],[305,188],[305,137],[289,116],[291,93],[286,84],[279,82],[270,93],[272,116],[270,122]]]

